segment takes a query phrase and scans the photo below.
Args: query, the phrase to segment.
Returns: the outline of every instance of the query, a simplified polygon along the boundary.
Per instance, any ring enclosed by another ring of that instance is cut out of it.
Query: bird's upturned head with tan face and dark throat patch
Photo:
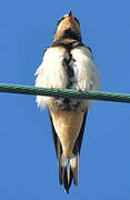
[[[63,16],[57,23],[53,42],[62,39],[74,39],[81,42],[80,24],[71,11]]]

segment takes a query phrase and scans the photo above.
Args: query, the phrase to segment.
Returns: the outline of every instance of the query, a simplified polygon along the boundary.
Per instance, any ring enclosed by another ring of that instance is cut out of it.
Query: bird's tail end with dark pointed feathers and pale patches
[[[79,154],[74,154],[71,159],[58,159],[59,166],[59,183],[63,184],[64,190],[69,193],[72,180],[73,184],[78,186],[78,160]]]

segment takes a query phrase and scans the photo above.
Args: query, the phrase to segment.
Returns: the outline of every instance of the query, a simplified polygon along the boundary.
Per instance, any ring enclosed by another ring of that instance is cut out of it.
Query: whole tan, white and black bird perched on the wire
[[[82,43],[79,20],[64,14],[58,22],[52,44],[44,49],[36,71],[36,87],[99,90],[100,78],[92,51]],[[38,107],[48,108],[58,160],[59,183],[69,193],[78,186],[79,156],[92,100],[37,96]]]

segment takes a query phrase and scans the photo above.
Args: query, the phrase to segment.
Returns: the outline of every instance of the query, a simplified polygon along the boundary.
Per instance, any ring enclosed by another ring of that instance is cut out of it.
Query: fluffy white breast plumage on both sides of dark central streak
[[[92,60],[91,51],[81,46],[74,48],[70,52],[73,60],[70,64],[74,71],[76,90],[98,90],[99,89],[99,73]],[[63,60],[69,60],[68,51],[62,47],[50,47],[46,50],[42,63],[38,68],[36,74],[36,86],[43,88],[66,89],[68,83],[68,74]],[[37,97],[37,102],[40,108],[49,106],[51,97]],[[91,101],[89,101],[91,102]],[[91,103],[89,103],[90,106]]]

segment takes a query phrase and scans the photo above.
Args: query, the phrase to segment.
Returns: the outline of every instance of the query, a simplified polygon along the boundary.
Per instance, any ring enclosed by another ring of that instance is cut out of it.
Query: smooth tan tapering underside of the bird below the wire
[[[83,114],[81,110],[76,111],[64,111],[64,110],[53,110],[51,111],[51,117],[56,132],[60,139],[63,157],[72,157],[73,147],[83,120]]]

